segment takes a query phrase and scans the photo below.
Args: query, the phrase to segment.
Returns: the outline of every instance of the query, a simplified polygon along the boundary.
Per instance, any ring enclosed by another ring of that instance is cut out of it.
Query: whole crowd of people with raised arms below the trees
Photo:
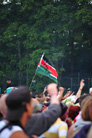
[[[91,138],[92,88],[77,93],[50,83],[33,95],[26,86],[9,87],[0,97],[0,138]],[[48,93],[46,95],[46,92]]]

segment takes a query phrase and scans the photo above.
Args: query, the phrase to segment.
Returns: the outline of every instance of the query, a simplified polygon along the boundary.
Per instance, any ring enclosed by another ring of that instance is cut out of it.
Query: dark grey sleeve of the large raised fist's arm
[[[26,125],[28,136],[30,138],[31,135],[40,136],[49,129],[60,115],[61,107],[58,104],[51,104],[45,112],[34,114]]]

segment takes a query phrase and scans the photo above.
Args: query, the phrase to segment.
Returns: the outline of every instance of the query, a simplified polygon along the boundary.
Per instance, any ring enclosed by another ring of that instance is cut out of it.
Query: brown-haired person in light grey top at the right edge
[[[87,96],[81,103],[81,118],[74,123],[69,131],[68,138],[75,136],[85,125],[90,125],[92,121],[92,96]]]

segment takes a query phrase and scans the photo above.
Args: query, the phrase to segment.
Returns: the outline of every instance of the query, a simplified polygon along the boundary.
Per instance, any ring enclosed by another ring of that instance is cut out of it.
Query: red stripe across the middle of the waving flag
[[[41,60],[40,63],[44,68],[48,69],[51,72],[51,75],[55,76],[56,78],[58,77],[56,70],[52,66],[47,64],[43,59]]]

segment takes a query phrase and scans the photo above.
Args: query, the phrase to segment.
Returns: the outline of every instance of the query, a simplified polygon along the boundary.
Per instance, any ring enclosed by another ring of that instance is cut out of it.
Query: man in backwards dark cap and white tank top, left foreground
[[[2,138],[28,138],[24,127],[32,116],[33,106],[30,91],[21,86],[13,90],[6,97],[8,111],[6,119],[0,122],[0,137]]]

